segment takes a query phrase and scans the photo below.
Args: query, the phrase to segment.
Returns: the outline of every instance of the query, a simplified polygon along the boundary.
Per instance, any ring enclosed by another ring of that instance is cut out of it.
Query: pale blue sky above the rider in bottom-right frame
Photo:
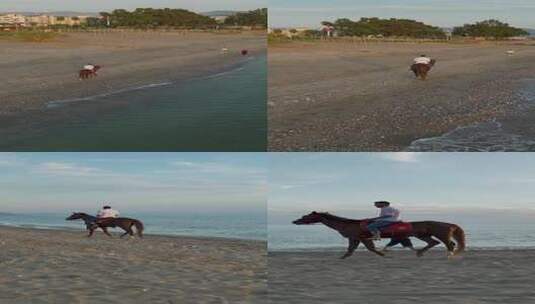
[[[410,212],[530,213],[535,153],[280,153],[269,160],[268,212],[351,211],[373,202]]]

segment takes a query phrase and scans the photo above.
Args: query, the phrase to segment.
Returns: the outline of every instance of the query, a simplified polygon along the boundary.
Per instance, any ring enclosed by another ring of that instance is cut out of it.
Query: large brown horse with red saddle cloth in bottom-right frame
[[[343,237],[349,240],[349,246],[347,252],[342,256],[345,259],[353,254],[360,243],[364,244],[366,248],[380,256],[384,256],[384,253],[378,251],[375,248],[373,240],[369,238],[368,231],[363,229],[362,223],[367,220],[353,220],[343,217],[331,215],[326,212],[312,212],[304,215],[300,219],[293,221],[296,225],[310,225],[321,223],[331,229],[338,231]],[[465,235],[463,229],[455,224],[442,223],[442,222],[410,222],[412,230],[408,231],[403,237],[416,237],[427,243],[427,246],[417,250],[417,256],[422,256],[427,250],[440,244],[440,242],[446,245],[448,255],[456,255],[464,251],[465,249]],[[384,237],[384,236],[383,236]],[[392,236],[393,237],[393,236]],[[455,239],[456,244],[451,240]],[[438,239],[438,241],[437,241]],[[440,242],[439,242],[440,241]]]

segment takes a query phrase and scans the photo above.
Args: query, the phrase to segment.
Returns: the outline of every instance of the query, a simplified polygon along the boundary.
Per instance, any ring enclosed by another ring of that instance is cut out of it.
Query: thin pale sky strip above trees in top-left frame
[[[100,12],[117,8],[184,8],[194,12],[213,10],[251,10],[267,7],[267,0],[2,0],[0,11],[78,11]]]

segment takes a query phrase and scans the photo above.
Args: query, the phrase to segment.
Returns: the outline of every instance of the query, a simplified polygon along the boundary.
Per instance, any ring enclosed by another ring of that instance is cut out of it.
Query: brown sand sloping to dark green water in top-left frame
[[[46,43],[0,40],[0,117],[42,110],[45,102],[83,98],[189,79],[231,68],[240,54],[266,52],[265,33],[64,33]],[[222,53],[228,48],[228,53]],[[82,65],[101,65],[80,81]]]

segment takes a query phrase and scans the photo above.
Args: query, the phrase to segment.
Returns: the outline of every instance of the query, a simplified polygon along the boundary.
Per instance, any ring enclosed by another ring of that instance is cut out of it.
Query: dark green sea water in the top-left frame
[[[213,75],[49,102],[0,133],[4,151],[265,151],[267,58]],[[5,134],[4,134],[5,133]]]

